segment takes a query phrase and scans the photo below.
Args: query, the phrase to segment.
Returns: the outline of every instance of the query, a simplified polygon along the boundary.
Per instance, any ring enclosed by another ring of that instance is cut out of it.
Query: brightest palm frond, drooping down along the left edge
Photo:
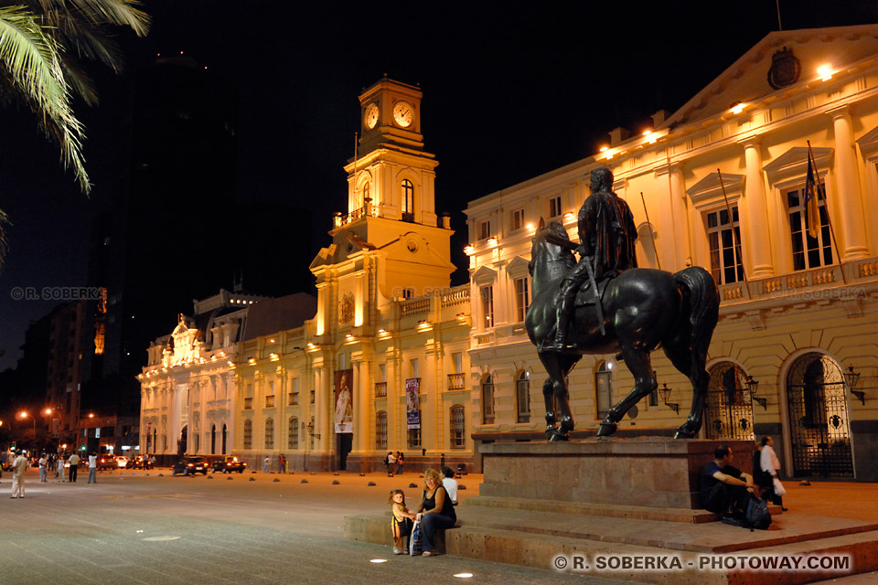
[[[84,193],[91,191],[82,156],[82,124],[70,107],[58,43],[23,6],[0,7],[0,62],[37,113],[48,135],[58,139],[61,162],[72,167]],[[50,131],[50,128],[52,129]]]

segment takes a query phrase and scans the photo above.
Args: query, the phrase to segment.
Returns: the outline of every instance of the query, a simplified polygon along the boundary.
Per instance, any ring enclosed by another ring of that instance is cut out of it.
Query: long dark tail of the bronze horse
[[[713,329],[720,318],[720,292],[711,273],[700,266],[677,272],[674,282],[680,285],[689,301],[691,376],[697,377],[704,369]]]

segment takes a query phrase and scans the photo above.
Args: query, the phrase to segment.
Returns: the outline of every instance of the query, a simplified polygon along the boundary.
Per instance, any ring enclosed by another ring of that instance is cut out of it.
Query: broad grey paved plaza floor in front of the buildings
[[[343,539],[344,516],[387,509],[391,488],[404,489],[408,504],[416,505],[423,481],[418,473],[389,478],[248,472],[193,478],[157,469],[102,472],[91,485],[85,476],[80,474],[76,484],[40,484],[32,471],[27,497],[13,500],[10,475],[4,474],[0,582],[620,582],[447,555],[396,557],[389,546]],[[478,495],[481,481],[477,474],[463,477],[460,499]],[[419,487],[410,488],[412,483]],[[788,514],[878,520],[875,484],[789,484]],[[473,577],[455,577],[460,573]],[[874,578],[851,578],[856,579],[851,584]]]

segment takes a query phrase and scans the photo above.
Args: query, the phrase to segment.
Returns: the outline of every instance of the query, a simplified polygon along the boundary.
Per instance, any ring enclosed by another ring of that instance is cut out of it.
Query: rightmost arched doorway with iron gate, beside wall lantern
[[[838,362],[799,356],[787,371],[787,416],[797,477],[853,477],[851,423]]]

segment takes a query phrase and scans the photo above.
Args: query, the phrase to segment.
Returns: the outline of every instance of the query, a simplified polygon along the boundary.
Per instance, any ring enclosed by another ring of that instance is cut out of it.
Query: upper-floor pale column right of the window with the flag
[[[832,129],[835,131],[835,176],[841,216],[841,229],[834,228],[837,232],[836,238],[842,242],[843,251],[839,250],[841,261],[852,261],[868,257],[869,247],[866,245],[865,215],[862,212],[851,110],[844,105],[828,113],[832,116]],[[828,207],[827,211],[829,210]]]

